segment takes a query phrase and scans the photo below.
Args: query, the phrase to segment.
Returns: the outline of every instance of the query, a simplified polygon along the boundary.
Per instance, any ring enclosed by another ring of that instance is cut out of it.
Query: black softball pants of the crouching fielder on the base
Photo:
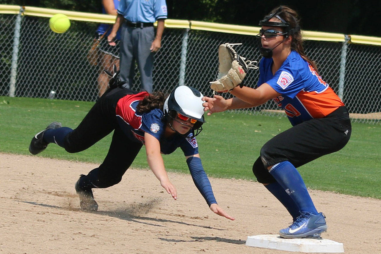
[[[290,161],[298,168],[323,155],[342,149],[351,137],[352,127],[346,107],[339,107],[324,118],[293,126],[263,145],[253,165],[258,182],[275,182],[267,167]]]

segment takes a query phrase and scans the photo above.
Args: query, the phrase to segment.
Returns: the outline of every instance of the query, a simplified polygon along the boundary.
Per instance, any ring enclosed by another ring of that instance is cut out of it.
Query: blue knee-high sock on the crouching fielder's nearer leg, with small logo
[[[289,161],[282,161],[270,169],[270,174],[295,201],[301,212],[317,214],[307,187],[298,170]]]

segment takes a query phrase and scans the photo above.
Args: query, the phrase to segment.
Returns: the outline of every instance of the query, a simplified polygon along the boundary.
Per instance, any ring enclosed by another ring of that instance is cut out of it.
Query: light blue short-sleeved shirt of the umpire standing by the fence
[[[120,0],[117,12],[136,23],[154,23],[167,18],[165,0]]]

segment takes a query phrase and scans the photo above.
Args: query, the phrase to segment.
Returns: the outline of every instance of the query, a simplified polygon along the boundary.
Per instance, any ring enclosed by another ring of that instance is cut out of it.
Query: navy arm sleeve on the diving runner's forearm
[[[187,158],[187,164],[189,171],[191,171],[193,182],[207,201],[208,206],[217,204],[207,173],[205,173],[204,168],[202,167],[201,159],[199,157],[189,157]]]

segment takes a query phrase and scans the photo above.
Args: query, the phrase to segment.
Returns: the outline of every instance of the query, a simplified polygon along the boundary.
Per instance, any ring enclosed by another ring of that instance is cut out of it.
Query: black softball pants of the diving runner
[[[140,142],[126,137],[115,116],[118,100],[127,94],[136,92],[125,88],[107,90],[78,127],[64,139],[65,150],[76,153],[88,149],[114,130],[106,158],[98,168],[88,174],[88,180],[98,188],[107,188],[120,182],[142,147]]]

